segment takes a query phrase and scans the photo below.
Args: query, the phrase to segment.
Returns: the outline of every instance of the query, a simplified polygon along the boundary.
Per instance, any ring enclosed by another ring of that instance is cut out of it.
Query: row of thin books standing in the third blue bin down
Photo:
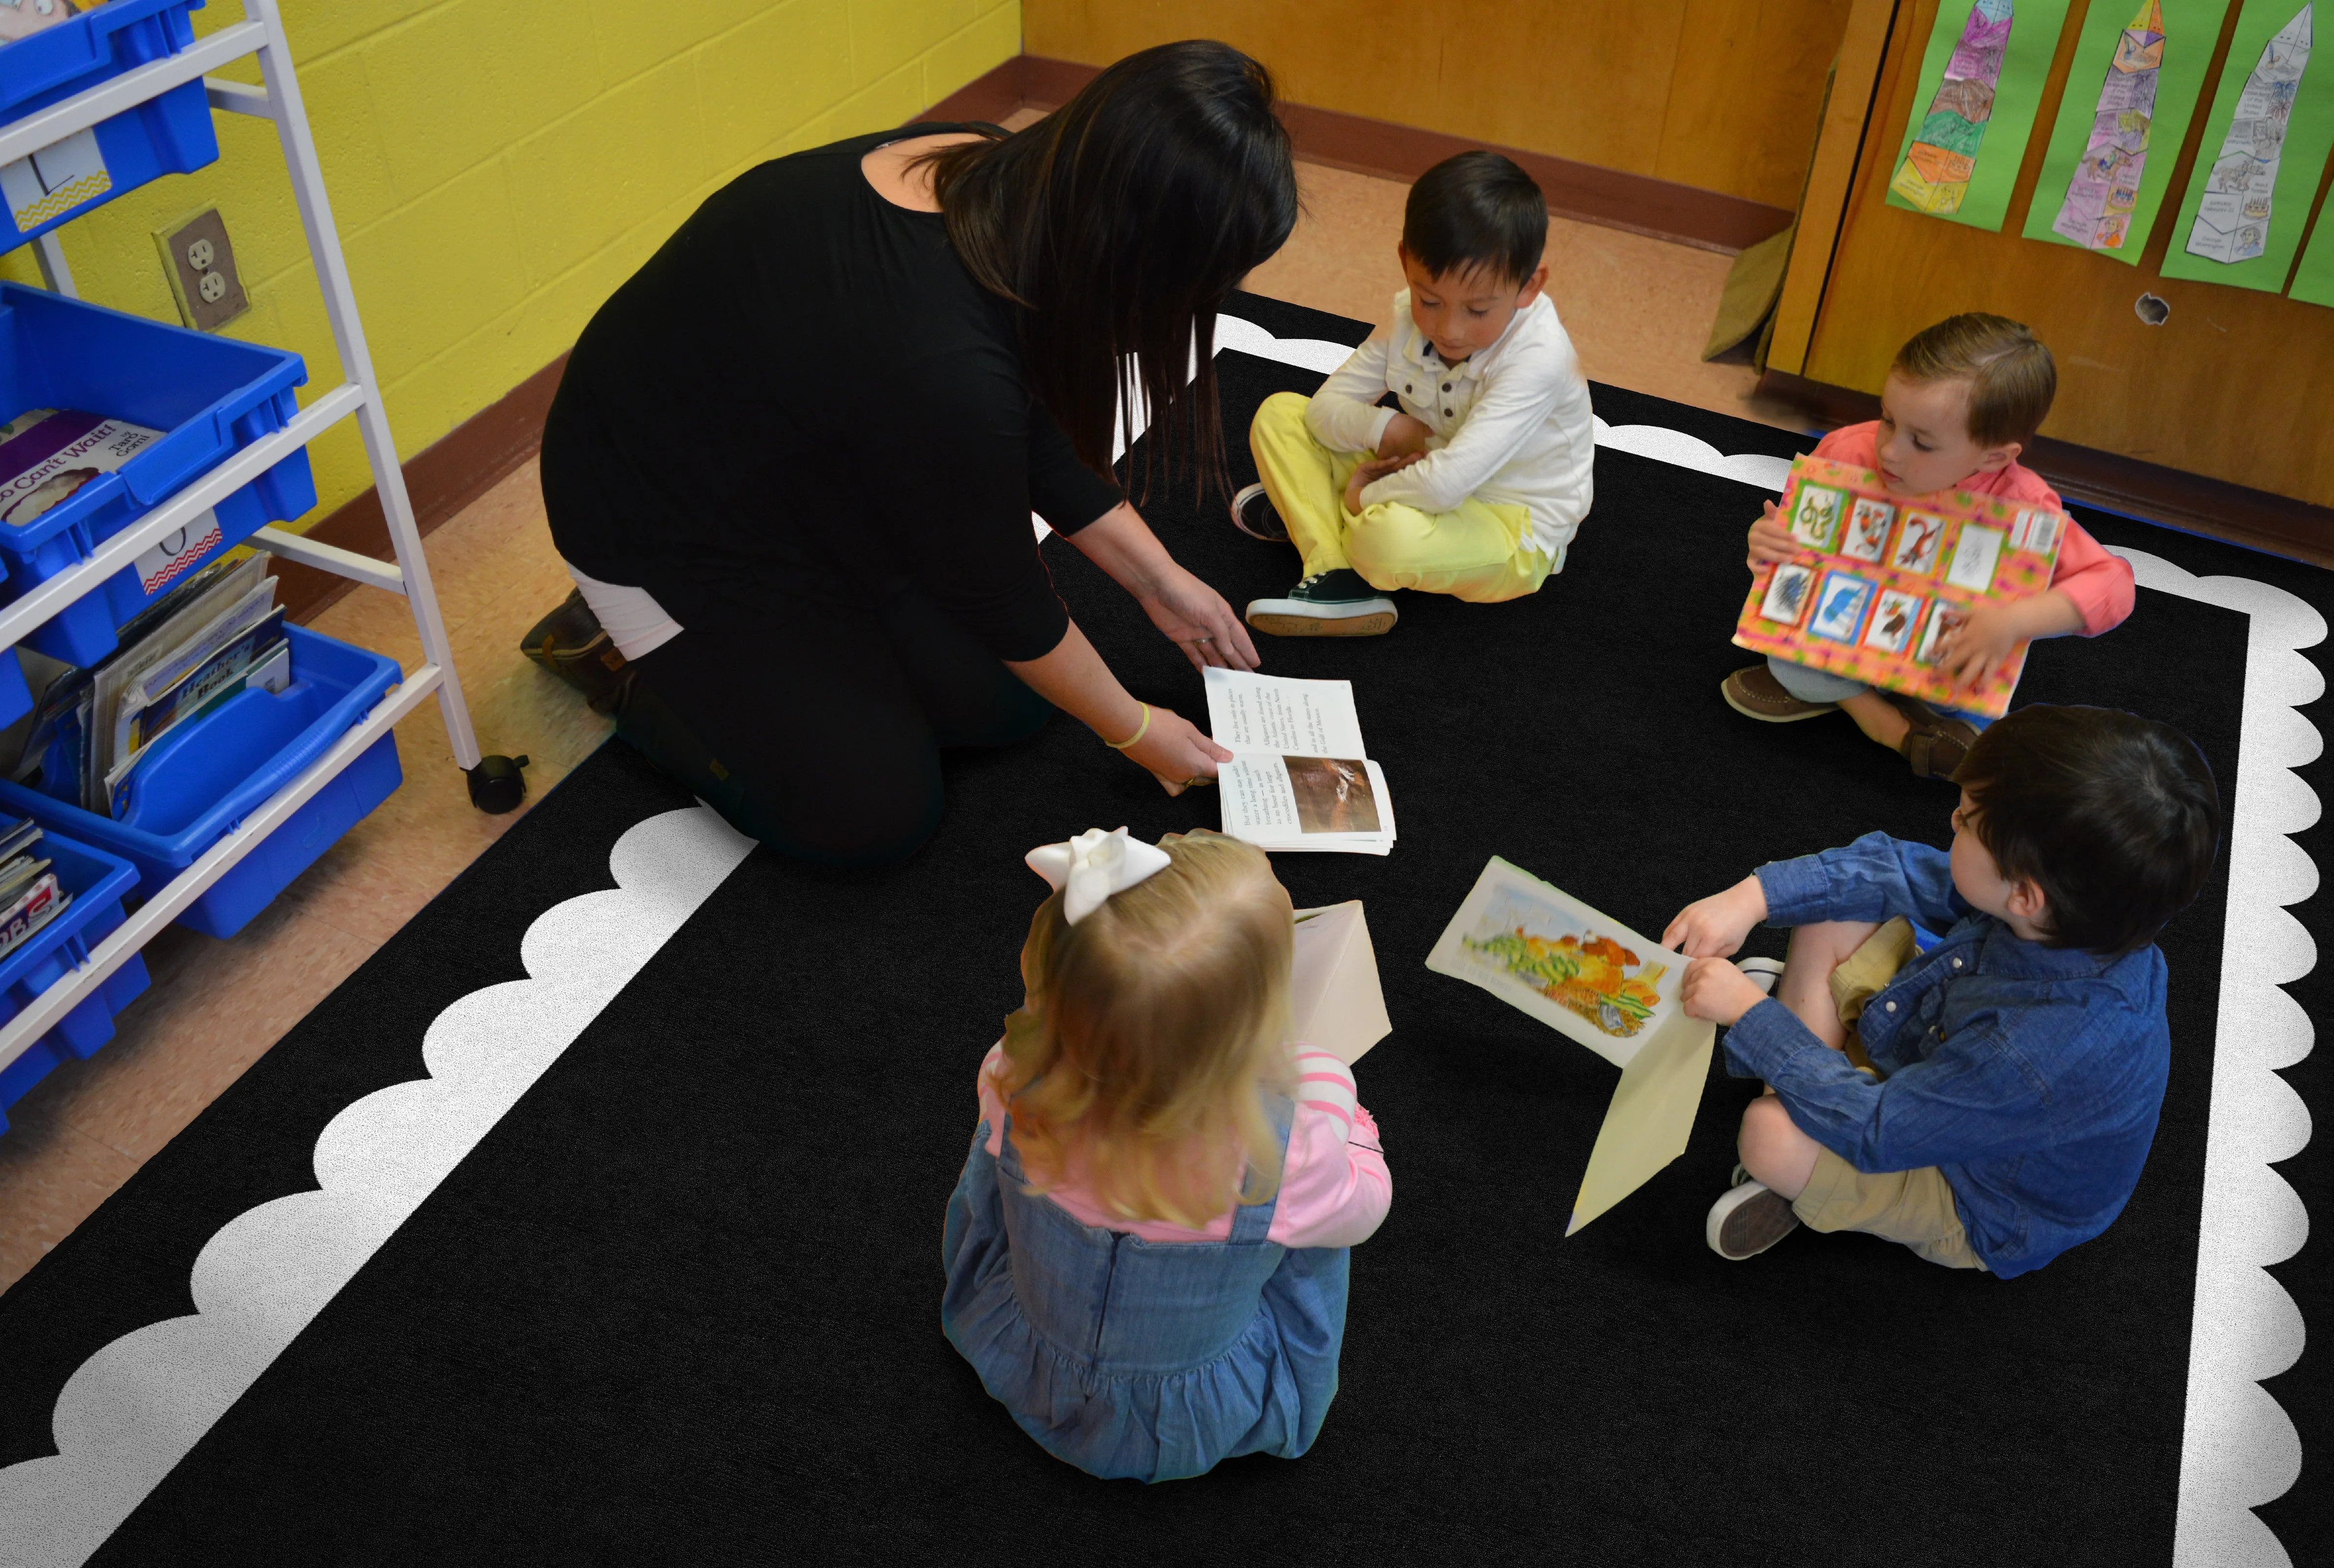
[[[14,779],[119,819],[140,763],[166,735],[236,693],[289,684],[292,646],[266,555],[210,565],[124,625],[103,663],[49,681]]]

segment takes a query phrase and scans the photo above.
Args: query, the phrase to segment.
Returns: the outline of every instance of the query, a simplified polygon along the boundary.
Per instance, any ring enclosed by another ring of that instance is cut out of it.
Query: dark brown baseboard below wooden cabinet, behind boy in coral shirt
[[[1870,392],[1807,380],[1788,371],[1760,376],[1758,394],[1802,408],[1828,427],[1874,420],[1881,411],[1881,399]],[[2313,567],[2334,567],[2334,509],[2329,506],[2311,506],[2266,490],[2248,490],[2222,478],[2185,474],[2138,457],[2117,457],[2049,436],[2035,439],[2026,464],[2070,502],[2306,560]]]

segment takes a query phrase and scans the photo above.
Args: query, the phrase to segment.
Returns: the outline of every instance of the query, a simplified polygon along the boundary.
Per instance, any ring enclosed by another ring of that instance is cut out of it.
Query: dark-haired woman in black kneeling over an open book
[[[826,863],[910,854],[941,747],[1053,707],[1169,793],[1214,777],[1228,754],[1071,623],[1029,513],[1193,663],[1256,665],[1111,441],[1134,357],[1151,408],[1195,415],[1160,462],[1181,441],[1221,481],[1214,313],[1295,210],[1272,82],[1225,44],[1130,56],[1018,135],[861,135],[707,198],[584,329],[544,429],[551,534],[637,665],[623,733]]]

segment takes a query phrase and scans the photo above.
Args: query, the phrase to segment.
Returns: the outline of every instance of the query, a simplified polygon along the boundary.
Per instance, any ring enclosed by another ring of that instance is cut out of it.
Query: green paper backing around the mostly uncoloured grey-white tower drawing
[[[2318,196],[2318,175],[2325,173],[2327,152],[2334,152],[2334,26],[2315,37],[2308,65],[2294,89],[2292,112],[2285,121],[2285,140],[2278,149],[2278,175],[2269,201],[2269,226],[2262,236],[2262,254],[2243,261],[2220,261],[2215,257],[2189,254],[2196,233],[2196,210],[2206,198],[2213,166],[2224,156],[2229,124],[2236,119],[2245,84],[2262,65],[2262,49],[2278,37],[2304,9],[2304,0],[2245,0],[2245,12],[2236,19],[2236,35],[2229,40],[2229,58],[2213,91],[2213,114],[2203,121],[2203,142],[2196,147],[2196,168],[2189,173],[2187,194],[2180,198],[2180,217],[2173,222],[2173,243],[2164,252],[2166,278],[2194,278],[2199,282],[2224,282],[2231,289],[2285,289],[2285,273],[2301,247],[2301,226],[2311,222],[2311,201]],[[2334,23],[2334,5],[2327,7]]]

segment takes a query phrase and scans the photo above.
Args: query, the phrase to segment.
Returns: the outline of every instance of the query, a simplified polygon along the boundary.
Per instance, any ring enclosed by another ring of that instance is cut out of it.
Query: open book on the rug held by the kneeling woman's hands
[[[1361,749],[1351,681],[1207,672],[1223,831],[1258,849],[1393,852],[1386,775]]]

